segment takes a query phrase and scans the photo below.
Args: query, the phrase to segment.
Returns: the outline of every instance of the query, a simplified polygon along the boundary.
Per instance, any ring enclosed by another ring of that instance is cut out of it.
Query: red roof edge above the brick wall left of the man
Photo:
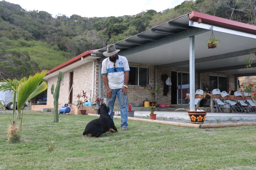
[[[58,70],[60,70],[60,69],[62,69],[62,68],[64,68],[64,67],[66,67],[66,66],[69,66],[70,64],[73,64],[73,63],[75,63],[75,62],[80,61],[80,60],[81,60],[81,57],[84,57],[84,58],[85,58],[85,57],[89,57],[89,56],[91,55],[91,53],[92,53],[92,52],[95,52],[95,51],[97,51],[97,50],[85,51],[85,52],[81,53],[80,55],[78,55],[78,56],[72,58],[71,60],[66,61],[66,62],[63,63],[63,64],[60,64],[59,66],[57,66],[57,67],[55,67],[55,68],[53,68],[53,69],[50,69],[49,72],[48,72],[48,74],[53,73],[53,72],[56,72],[56,71],[58,71]]]

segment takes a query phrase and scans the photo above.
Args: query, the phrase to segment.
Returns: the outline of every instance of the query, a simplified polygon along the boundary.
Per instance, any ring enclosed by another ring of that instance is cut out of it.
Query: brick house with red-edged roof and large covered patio
[[[219,39],[215,49],[208,49],[206,41],[214,34]],[[256,75],[255,62],[245,68],[245,59],[256,51],[256,26],[192,11],[181,17],[150,28],[114,44],[126,56],[130,66],[128,102],[143,105],[158,104],[188,107],[186,94],[190,93],[190,108],[194,107],[194,92],[208,87],[221,91],[238,90],[238,77]],[[49,71],[47,106],[53,107],[50,87],[56,84],[58,72],[63,72],[59,103],[73,102],[75,95],[86,91],[91,100],[104,96],[101,62],[105,58],[99,50],[81,55]],[[167,74],[172,85],[163,94],[161,75]],[[74,84],[73,84],[74,83]],[[71,86],[73,89],[70,92]]]

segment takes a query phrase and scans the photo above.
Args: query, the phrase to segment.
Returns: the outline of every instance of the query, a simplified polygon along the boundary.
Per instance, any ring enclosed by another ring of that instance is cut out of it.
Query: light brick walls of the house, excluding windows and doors
[[[149,68],[149,85],[148,86],[128,86],[128,102],[130,103],[139,103],[140,106],[143,106],[143,101],[148,98],[149,101],[153,101],[153,97],[151,96],[151,92],[154,91],[154,66],[146,65],[146,64],[129,64],[129,66],[134,67],[147,67]],[[75,95],[80,94],[82,90],[86,91],[86,94],[88,96],[88,99],[90,99],[90,94],[92,90],[92,62],[85,63],[79,67],[76,67],[72,70],[69,70],[67,72],[64,72],[64,81],[63,84],[60,87],[60,97],[59,97],[59,103],[65,102],[68,93],[69,93],[69,76],[70,72],[74,72],[74,86],[73,86],[73,102],[76,100]],[[95,78],[94,78],[94,99],[98,97],[98,84],[99,79],[98,75],[99,73],[99,64],[98,61],[95,61]],[[169,87],[169,93],[167,96],[163,95],[163,89],[164,89],[164,82],[161,81],[161,74],[167,74],[169,77],[171,77],[171,71],[176,72],[189,72],[189,70],[184,69],[176,69],[176,68],[160,68],[158,69],[158,86],[160,86],[160,89],[157,92],[157,102],[158,104],[164,103],[164,104],[171,104],[171,87]],[[209,84],[209,74],[216,74],[216,73],[201,73],[201,84]],[[235,88],[235,75],[234,74],[222,74],[218,73],[218,75],[227,75],[228,76],[228,85],[229,89],[234,90]],[[53,96],[50,93],[50,87],[52,84],[57,83],[58,76],[54,76],[52,78],[48,79],[48,91],[47,91],[47,105],[48,107],[53,107]],[[195,90],[199,89],[199,73],[195,73]],[[102,80],[102,86],[104,85]],[[201,87],[202,88],[202,87]],[[101,88],[101,96],[104,96],[105,93],[103,91],[103,88]],[[69,100],[68,100],[69,101]],[[118,104],[118,100],[116,100],[116,104]]]

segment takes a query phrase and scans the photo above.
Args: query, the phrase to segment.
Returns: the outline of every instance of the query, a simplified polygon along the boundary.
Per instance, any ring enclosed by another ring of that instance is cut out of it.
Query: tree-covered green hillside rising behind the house
[[[193,10],[255,25],[255,7],[256,0],[196,0],[162,12],[148,9],[133,16],[87,18],[52,17],[0,1],[0,80],[51,69]]]

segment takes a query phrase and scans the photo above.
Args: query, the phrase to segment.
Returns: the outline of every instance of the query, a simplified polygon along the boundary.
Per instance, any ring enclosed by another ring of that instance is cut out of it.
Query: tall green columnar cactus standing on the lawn
[[[60,91],[60,83],[62,81],[62,72],[59,72],[58,75],[58,81],[56,85],[56,89],[54,91],[54,84],[52,84],[51,87],[51,93],[53,95],[53,105],[54,105],[54,122],[59,122],[59,111],[58,111],[58,105],[59,105],[59,91]]]

